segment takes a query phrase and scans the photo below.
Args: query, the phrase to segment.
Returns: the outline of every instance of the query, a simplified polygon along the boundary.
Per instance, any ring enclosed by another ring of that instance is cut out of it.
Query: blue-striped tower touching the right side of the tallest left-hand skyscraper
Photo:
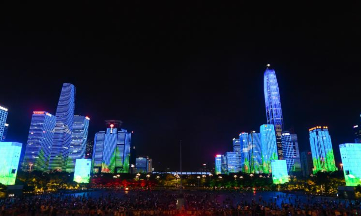
[[[74,116],[69,156],[66,163],[67,172],[74,172],[75,161],[77,159],[84,159],[86,156],[89,120],[88,116]]]

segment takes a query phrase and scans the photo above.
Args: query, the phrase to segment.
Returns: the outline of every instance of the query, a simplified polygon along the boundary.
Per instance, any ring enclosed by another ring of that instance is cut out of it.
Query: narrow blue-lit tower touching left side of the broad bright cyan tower
[[[248,134],[249,168],[251,173],[262,173],[261,135],[256,131]]]

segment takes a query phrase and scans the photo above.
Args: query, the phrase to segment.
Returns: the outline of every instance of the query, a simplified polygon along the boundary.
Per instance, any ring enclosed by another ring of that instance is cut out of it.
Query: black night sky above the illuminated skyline
[[[76,86],[76,114],[134,131],[156,170],[213,165],[242,131],[266,123],[270,63],[286,128],[301,150],[308,129],[329,126],[338,144],[360,124],[358,5],[86,1],[0,8],[0,104],[8,140],[26,143],[32,111],[55,114],[61,85]],[[209,166],[211,168],[211,166]]]

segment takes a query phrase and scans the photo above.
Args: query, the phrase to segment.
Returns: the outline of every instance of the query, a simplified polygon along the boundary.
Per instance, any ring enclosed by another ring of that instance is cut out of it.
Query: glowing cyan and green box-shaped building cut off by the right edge
[[[361,143],[340,144],[346,186],[361,185]]]

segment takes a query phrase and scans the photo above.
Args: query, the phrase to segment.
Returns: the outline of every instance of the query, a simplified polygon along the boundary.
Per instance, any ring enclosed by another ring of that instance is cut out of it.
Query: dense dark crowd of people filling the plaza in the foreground
[[[82,195],[39,195],[0,200],[3,215],[337,215],[360,214],[359,201],[299,197],[278,193],[268,196],[241,192],[132,191],[106,192],[95,197]],[[200,213],[202,212],[202,213]]]

